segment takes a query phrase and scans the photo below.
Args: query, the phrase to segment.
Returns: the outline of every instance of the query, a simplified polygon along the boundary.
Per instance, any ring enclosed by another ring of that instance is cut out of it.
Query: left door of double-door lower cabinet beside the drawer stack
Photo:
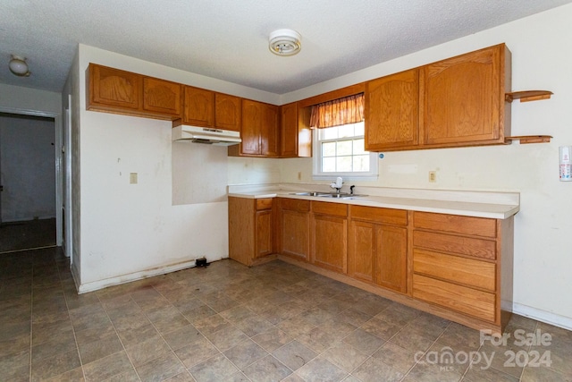
[[[375,225],[352,221],[349,224],[348,275],[373,283],[374,260]]]

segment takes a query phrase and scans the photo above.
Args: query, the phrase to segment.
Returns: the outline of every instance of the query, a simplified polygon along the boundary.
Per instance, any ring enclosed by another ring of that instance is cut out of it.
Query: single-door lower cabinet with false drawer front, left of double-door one
[[[311,262],[347,273],[348,205],[313,201],[311,225]]]

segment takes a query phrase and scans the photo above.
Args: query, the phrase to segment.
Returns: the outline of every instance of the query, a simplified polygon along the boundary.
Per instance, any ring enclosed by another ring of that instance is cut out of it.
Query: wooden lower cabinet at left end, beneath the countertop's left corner
[[[273,199],[229,197],[229,257],[250,267],[273,252]]]

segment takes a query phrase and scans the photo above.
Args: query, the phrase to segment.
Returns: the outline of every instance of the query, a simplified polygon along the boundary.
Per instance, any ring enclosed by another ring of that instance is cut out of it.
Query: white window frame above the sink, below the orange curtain
[[[377,153],[369,152],[369,171],[368,172],[324,172],[322,171],[322,143],[323,142],[333,142],[340,140],[355,140],[364,138],[363,135],[354,135],[352,137],[342,137],[338,139],[330,140],[320,140],[320,130],[313,129],[313,140],[312,145],[312,179],[313,180],[332,180],[338,176],[341,176],[345,180],[349,181],[376,181],[379,177],[379,168]]]

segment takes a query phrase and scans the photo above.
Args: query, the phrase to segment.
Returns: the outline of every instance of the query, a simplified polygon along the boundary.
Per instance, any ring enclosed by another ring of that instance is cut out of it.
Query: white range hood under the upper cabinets
[[[242,141],[240,140],[240,132],[211,127],[189,126],[181,124],[181,120],[172,122],[172,140],[186,140],[214,146],[238,145]]]

